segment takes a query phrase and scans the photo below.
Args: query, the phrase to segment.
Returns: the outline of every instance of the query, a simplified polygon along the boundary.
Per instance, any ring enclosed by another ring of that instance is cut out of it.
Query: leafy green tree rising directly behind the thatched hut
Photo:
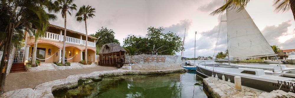
[[[104,27],[101,27],[101,29],[99,29],[95,34],[90,34],[90,36],[97,38],[96,54],[98,54],[101,46],[104,44],[109,44],[109,43],[113,43],[113,42],[120,44],[119,40],[115,39],[114,34],[115,34],[115,32],[112,29],[107,29]]]

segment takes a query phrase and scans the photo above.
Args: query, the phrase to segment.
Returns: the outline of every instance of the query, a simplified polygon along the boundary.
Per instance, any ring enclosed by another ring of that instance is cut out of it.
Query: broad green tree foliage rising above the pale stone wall
[[[171,31],[168,33],[163,31],[162,28],[149,27],[145,38],[129,35],[124,39],[124,46],[138,49],[138,54],[173,55],[175,52],[180,52],[181,38]]]

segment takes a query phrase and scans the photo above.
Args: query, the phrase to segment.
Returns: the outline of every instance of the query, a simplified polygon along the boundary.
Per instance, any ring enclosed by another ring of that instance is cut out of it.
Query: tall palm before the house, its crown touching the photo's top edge
[[[61,64],[65,65],[65,38],[67,35],[67,12],[70,16],[72,16],[73,10],[77,10],[76,4],[73,4],[74,0],[57,0],[54,2],[55,5],[58,6],[55,9],[55,12],[61,11],[61,16],[65,19],[65,33],[63,36],[63,54],[61,57]]]

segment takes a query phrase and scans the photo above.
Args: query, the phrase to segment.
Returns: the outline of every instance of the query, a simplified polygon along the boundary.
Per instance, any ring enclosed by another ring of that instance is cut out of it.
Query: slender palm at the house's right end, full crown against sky
[[[87,24],[86,24],[86,20],[93,18],[93,16],[95,13],[95,8],[92,8],[91,6],[87,5],[83,5],[80,7],[79,11],[76,13],[76,17],[77,17],[77,21],[85,22],[85,31],[86,31],[86,43],[85,43],[85,61],[87,62],[87,44],[88,44],[88,39],[87,39]]]

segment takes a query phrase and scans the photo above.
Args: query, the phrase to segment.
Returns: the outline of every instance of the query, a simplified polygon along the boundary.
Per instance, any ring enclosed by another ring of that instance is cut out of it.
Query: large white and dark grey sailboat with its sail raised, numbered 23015
[[[276,56],[271,46],[261,34],[248,12],[227,9],[227,39],[229,58],[243,59],[252,57]],[[290,68],[281,64],[211,64],[198,65],[196,71],[207,77],[228,79],[234,82],[240,76],[242,85],[271,92],[283,90],[294,92],[294,74]],[[269,72],[269,73],[268,73]],[[282,77],[288,76],[288,77]]]

